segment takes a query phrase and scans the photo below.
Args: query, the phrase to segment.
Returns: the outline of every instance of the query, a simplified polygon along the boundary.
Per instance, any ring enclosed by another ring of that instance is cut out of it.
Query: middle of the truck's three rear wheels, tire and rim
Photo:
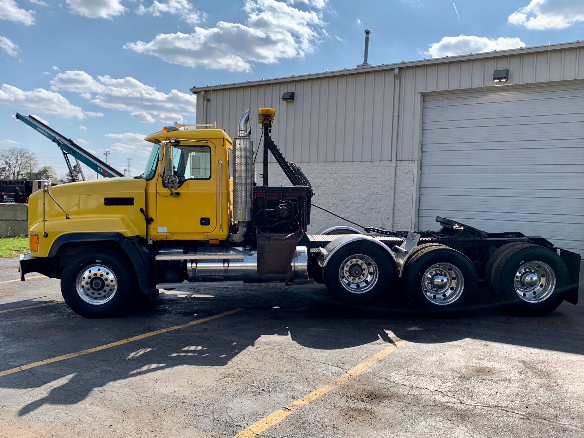
[[[402,276],[409,303],[432,313],[465,308],[477,283],[477,271],[471,261],[463,253],[440,244],[420,245],[406,261]]]

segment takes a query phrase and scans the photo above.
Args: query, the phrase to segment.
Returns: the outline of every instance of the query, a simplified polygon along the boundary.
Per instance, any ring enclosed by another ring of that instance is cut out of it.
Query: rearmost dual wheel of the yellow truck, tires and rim
[[[569,285],[568,268],[557,253],[533,244],[505,248],[490,277],[495,300],[515,315],[550,313],[562,304],[561,292]]]

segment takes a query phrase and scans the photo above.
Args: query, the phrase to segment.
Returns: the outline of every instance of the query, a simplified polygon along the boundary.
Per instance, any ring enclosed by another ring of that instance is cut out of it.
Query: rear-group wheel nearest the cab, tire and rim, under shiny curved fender
[[[387,251],[370,242],[343,246],[322,269],[324,283],[331,294],[353,304],[372,303],[387,293],[393,273]]]

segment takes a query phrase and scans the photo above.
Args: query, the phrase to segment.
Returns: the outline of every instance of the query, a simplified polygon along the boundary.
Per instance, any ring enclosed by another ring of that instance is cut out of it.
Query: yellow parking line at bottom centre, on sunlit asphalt
[[[270,415],[268,415],[267,417],[262,418],[256,423],[253,423],[253,425],[246,427],[244,430],[235,435],[234,438],[251,438],[259,433],[262,433],[264,430],[269,429],[276,423],[286,418],[292,412],[296,411],[296,409],[300,408],[300,406],[303,406],[308,402],[311,402],[312,400],[321,397],[321,395],[325,395],[327,392],[330,392],[338,388],[340,385],[347,383],[349,380],[359,376],[359,374],[363,373],[363,371],[367,370],[371,365],[380,361],[388,354],[393,353],[399,346],[404,345],[406,342],[407,341],[405,340],[398,340],[398,342],[395,342],[394,344],[385,347],[379,353],[374,354],[374,356],[371,356],[369,359],[361,362],[359,365],[347,371],[342,376],[336,378],[331,383],[327,383],[323,387],[320,387],[317,390],[312,391],[310,394],[307,394],[304,397],[291,402],[289,405],[284,406],[282,409],[278,409],[276,412],[270,413]]]

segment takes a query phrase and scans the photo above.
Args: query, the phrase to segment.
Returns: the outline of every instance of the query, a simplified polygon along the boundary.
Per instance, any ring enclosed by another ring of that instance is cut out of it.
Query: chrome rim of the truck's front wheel
[[[102,305],[116,294],[117,278],[107,266],[87,266],[79,272],[75,289],[85,303]]]

